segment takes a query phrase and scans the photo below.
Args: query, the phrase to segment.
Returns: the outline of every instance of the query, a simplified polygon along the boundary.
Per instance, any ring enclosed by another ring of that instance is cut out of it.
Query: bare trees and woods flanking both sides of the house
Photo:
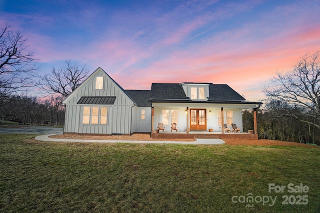
[[[9,25],[0,29],[0,119],[30,124],[63,125],[61,100],[87,77],[85,66],[65,61],[39,76],[37,58],[27,50],[26,38]],[[27,96],[30,88],[51,94],[45,100]],[[257,109],[260,138],[320,144],[319,51],[303,55],[292,70],[271,79]],[[253,129],[253,112],[244,110],[243,131]]]

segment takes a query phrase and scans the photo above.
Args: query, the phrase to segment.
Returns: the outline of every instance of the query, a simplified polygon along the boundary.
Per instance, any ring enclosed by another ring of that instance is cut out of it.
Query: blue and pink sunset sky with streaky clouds
[[[228,84],[249,101],[320,50],[320,0],[0,0],[0,26],[27,38],[40,73],[65,60],[124,89]]]

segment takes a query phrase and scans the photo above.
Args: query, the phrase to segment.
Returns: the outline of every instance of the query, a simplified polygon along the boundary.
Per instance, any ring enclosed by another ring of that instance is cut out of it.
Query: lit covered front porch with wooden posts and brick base
[[[259,105],[245,104],[152,104],[151,137],[158,139],[193,138],[247,138],[258,139],[256,108]],[[220,106],[220,107],[219,107]],[[252,108],[254,129],[243,132],[242,109]],[[171,131],[171,123],[178,126]],[[162,123],[164,130],[158,131]],[[232,131],[231,123],[236,123],[238,131]],[[227,124],[227,129],[224,129]]]

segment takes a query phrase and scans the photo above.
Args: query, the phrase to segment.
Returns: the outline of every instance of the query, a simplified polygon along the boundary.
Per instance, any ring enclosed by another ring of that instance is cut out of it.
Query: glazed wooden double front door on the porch
[[[205,109],[190,109],[190,130],[206,130]]]

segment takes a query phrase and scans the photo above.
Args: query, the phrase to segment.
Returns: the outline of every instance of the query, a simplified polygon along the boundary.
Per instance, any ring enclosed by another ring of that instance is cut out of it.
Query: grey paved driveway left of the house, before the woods
[[[63,134],[63,128],[50,126],[23,126],[14,128],[1,128],[0,133],[21,133],[21,134]]]

